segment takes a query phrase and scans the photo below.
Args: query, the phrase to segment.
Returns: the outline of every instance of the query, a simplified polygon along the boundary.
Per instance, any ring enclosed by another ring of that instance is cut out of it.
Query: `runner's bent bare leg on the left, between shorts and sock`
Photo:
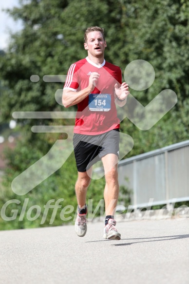
[[[90,171],[92,171],[92,167]],[[90,182],[91,178],[89,177],[86,171],[85,172],[78,171],[78,178],[76,181],[75,189],[76,189],[77,204],[79,208],[82,208],[86,204],[87,189],[90,185]]]

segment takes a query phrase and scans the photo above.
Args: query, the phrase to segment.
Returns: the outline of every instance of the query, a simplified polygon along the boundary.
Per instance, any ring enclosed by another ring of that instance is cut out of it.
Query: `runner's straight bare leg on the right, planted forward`
[[[105,171],[106,186],[104,189],[105,210],[107,215],[114,215],[119,195],[117,163],[118,157],[115,154],[107,154],[102,157]]]

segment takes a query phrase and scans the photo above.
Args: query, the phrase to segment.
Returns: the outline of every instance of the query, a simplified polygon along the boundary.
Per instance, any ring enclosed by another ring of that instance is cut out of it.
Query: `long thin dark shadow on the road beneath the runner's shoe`
[[[166,239],[165,239],[166,238]],[[170,240],[179,240],[179,239],[186,239],[189,238],[189,234],[187,235],[175,235],[175,236],[163,236],[163,237],[151,237],[151,238],[133,238],[133,239],[121,239],[123,240],[147,240],[150,239],[150,241],[141,241],[141,242],[132,242],[132,243],[123,243],[123,244],[112,244],[112,246],[130,246],[133,244],[138,244],[138,243],[148,243],[148,242],[160,242],[160,241],[170,241]],[[153,240],[151,240],[153,239]],[[158,240],[154,240],[158,239]],[[85,242],[85,243],[93,243],[93,242],[110,242],[111,240],[99,240],[99,241],[90,241],[90,242]],[[114,241],[113,241],[114,242]]]

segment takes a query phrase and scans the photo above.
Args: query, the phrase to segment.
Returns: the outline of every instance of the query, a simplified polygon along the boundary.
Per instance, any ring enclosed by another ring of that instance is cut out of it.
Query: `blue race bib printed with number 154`
[[[89,94],[89,110],[92,112],[108,112],[111,110],[110,94]]]

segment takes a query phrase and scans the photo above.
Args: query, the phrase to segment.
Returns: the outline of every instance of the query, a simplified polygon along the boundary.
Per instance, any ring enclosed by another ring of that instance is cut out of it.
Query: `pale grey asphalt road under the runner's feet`
[[[189,218],[0,231],[0,284],[189,284]]]

